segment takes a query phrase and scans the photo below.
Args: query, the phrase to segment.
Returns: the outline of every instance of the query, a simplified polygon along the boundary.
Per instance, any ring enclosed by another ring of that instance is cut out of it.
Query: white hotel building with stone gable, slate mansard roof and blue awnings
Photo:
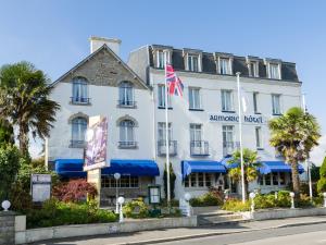
[[[241,193],[224,163],[238,148],[236,73],[248,98],[243,147],[258,150],[261,176],[250,188],[271,192],[290,182],[290,168],[269,146],[267,121],[301,106],[296,64],[276,59],[238,57],[150,45],[118,58],[120,40],[91,38],[91,54],[53,83],[61,105],[47,140],[47,157],[63,176],[80,176],[84,134],[92,115],[109,119],[108,156],[101,198],[113,203],[114,172],[122,173],[121,194],[147,196],[149,184],[163,186],[165,168],[164,57],[185,86],[184,97],[168,101],[170,161],[176,174],[175,195],[192,196],[210,186]],[[102,46],[104,45],[104,46]],[[163,187],[162,187],[162,195]]]

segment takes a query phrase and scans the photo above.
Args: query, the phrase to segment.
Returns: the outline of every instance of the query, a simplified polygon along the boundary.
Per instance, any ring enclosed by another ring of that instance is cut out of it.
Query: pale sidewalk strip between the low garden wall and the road
[[[126,245],[126,244],[153,244],[177,240],[187,240],[195,237],[204,237],[212,235],[234,234],[241,232],[261,231],[267,229],[286,228],[306,225],[315,223],[326,223],[326,217],[302,217],[290,218],[283,220],[266,220],[266,221],[253,221],[243,222],[238,224],[218,225],[212,228],[179,228],[179,229],[166,229],[158,231],[146,231],[136,233],[123,233],[118,235],[105,235],[97,237],[75,237],[60,241],[45,241],[35,244],[72,244],[78,245]]]

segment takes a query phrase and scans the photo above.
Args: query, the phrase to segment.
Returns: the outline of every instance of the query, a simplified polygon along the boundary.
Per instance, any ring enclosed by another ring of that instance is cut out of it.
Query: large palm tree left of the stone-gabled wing
[[[17,127],[20,150],[28,154],[29,133],[49,136],[59,103],[48,97],[52,90],[46,74],[32,63],[18,62],[0,69],[0,118]]]

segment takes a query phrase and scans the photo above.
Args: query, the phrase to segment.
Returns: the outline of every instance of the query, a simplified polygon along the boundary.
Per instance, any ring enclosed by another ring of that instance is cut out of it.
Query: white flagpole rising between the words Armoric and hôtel
[[[238,109],[239,109],[239,142],[240,142],[240,161],[241,161],[241,189],[242,189],[242,203],[246,203],[246,189],[244,189],[244,166],[243,166],[243,149],[242,149],[242,113],[241,113],[241,95],[240,95],[240,72],[237,72],[237,85],[238,85]]]

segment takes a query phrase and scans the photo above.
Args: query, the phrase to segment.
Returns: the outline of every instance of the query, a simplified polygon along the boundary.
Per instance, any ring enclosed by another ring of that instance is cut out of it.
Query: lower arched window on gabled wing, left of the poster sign
[[[72,120],[72,147],[84,147],[87,119],[77,117]]]

